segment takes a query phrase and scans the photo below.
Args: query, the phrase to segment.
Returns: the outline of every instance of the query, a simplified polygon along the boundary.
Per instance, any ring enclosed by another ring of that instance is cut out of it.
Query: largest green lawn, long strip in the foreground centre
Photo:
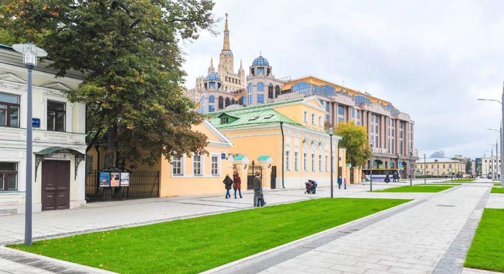
[[[199,273],[407,201],[322,198],[9,247],[118,273]]]

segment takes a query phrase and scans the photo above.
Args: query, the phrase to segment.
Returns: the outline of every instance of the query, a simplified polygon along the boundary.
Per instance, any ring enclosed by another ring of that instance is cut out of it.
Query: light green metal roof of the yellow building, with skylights
[[[300,126],[298,122],[288,118],[287,116],[273,109],[250,111],[244,113],[233,113],[233,116],[238,117],[238,119],[228,124],[221,124],[220,123],[221,120],[218,117],[210,118],[210,123],[212,123],[212,125],[214,125],[216,128],[219,129],[247,126],[247,125],[273,124],[273,123],[279,123],[280,121],[283,121],[284,123],[287,124]]]

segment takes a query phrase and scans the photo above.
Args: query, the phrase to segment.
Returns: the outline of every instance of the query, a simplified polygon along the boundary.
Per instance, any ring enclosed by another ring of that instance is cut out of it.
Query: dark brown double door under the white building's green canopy
[[[42,211],[70,208],[70,161],[42,162]]]

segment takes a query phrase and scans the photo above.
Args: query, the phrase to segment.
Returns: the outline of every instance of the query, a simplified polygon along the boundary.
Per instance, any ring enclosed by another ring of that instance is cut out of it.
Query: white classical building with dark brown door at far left
[[[85,200],[86,105],[64,91],[83,76],[39,62],[33,71],[33,212],[78,208]],[[0,215],[25,212],[27,69],[0,44]]]

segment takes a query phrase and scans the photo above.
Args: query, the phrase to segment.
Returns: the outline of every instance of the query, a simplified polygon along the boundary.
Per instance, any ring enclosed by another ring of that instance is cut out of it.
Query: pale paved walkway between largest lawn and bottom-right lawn
[[[243,263],[243,268],[238,266],[228,273],[460,274],[465,271],[466,274],[474,274],[470,272],[475,271],[473,269],[463,269],[464,259],[448,261],[448,264],[444,262],[439,266],[443,269],[436,268],[471,215],[481,214],[489,188],[489,184],[464,184],[437,193],[385,220],[357,231],[347,231],[346,235],[320,247],[306,249],[295,257],[279,255],[252,266]],[[475,209],[481,201],[484,203],[477,212]],[[470,232],[474,233],[475,229],[476,226]],[[458,246],[469,247],[472,237],[463,236],[462,239],[457,238],[461,242]],[[462,254],[464,258],[465,254]],[[270,262],[276,263],[271,265]],[[261,265],[268,265],[268,268]]]

